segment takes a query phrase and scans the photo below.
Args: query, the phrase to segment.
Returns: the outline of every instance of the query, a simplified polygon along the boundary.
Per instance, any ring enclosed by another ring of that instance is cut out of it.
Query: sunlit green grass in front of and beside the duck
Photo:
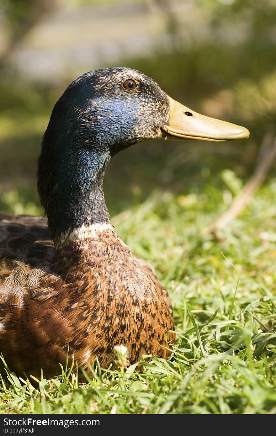
[[[32,384],[10,374],[0,412],[276,413],[276,180],[217,237],[201,236],[240,185],[233,174],[210,176],[186,194],[156,191],[112,219],[170,293],[177,341],[168,361],[143,358],[139,373],[96,364],[85,385],[70,370]]]

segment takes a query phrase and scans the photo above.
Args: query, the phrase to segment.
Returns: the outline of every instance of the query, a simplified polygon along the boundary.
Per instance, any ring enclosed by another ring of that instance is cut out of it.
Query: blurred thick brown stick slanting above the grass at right
[[[230,208],[224,212],[213,224],[204,229],[202,235],[215,233],[243,211],[249,200],[253,197],[260,184],[266,177],[269,168],[273,165],[276,158],[276,137],[272,133],[267,133],[262,141],[259,153],[258,164],[249,181],[242,188],[241,192],[234,198]]]

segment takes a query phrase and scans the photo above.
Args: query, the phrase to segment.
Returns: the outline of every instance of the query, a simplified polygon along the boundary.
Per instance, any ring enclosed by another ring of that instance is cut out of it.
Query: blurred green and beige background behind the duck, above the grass
[[[249,178],[276,123],[275,0],[2,0],[0,211],[42,212],[36,162],[56,100],[78,75],[116,65],[150,75],[174,99],[251,136],[156,140],[119,153],[106,173],[111,215],[156,190],[186,207],[187,194],[226,184],[232,195]]]

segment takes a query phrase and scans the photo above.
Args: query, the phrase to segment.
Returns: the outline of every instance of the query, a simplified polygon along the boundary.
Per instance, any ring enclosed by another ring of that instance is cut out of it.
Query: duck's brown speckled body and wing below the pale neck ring
[[[170,353],[171,303],[153,270],[111,225],[90,230],[54,248],[42,218],[0,214],[0,352],[19,375],[60,373],[68,342],[85,368],[108,367],[118,344],[130,363]]]

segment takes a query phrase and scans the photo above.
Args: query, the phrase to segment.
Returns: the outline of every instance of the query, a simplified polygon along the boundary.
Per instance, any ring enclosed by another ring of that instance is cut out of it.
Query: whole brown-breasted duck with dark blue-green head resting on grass
[[[249,131],[203,116],[125,67],[76,78],[41,143],[44,217],[0,214],[0,353],[17,375],[46,378],[75,359],[89,368],[167,359],[175,341],[167,291],[112,226],[103,193],[110,159],[140,141],[226,141]],[[69,351],[68,351],[69,350]],[[1,372],[3,372],[3,367]]]

